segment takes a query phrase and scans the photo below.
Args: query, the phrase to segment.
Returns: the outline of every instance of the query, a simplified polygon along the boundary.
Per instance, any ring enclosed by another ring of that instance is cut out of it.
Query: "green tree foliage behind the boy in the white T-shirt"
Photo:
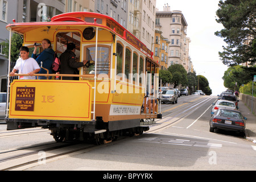
[[[19,34],[11,36],[11,61],[16,61],[19,58],[19,48],[22,46],[23,40]],[[3,55],[9,57],[9,40],[0,43],[3,46]]]

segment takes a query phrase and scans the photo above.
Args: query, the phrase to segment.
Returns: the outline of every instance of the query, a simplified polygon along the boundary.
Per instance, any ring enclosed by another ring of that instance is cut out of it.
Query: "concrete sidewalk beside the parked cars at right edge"
[[[251,113],[250,109],[240,100],[238,107],[246,120],[246,139],[256,143],[256,116]]]

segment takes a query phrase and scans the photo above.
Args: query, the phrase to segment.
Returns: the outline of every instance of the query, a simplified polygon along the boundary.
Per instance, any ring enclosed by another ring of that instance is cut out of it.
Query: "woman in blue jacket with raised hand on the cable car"
[[[44,49],[43,52],[39,53],[39,55],[36,55],[36,49],[38,46],[34,45],[34,52],[32,53],[32,57],[38,62],[39,66],[41,67],[41,62],[43,62],[43,68],[48,69],[49,74],[52,73],[51,67],[52,62],[54,59],[54,51],[51,48],[51,41],[49,39],[43,39],[42,40],[42,47]],[[38,73],[45,74],[47,71],[45,69],[41,68]],[[39,76],[39,80],[46,80],[46,76]],[[49,77],[51,79],[51,77]]]

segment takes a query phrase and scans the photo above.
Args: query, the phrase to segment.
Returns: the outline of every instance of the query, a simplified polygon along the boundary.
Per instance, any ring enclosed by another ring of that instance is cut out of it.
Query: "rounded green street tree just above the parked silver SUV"
[[[187,71],[181,64],[173,64],[168,68],[168,71],[172,73],[172,81],[174,84],[174,88],[181,84],[182,86],[186,86],[188,83]]]

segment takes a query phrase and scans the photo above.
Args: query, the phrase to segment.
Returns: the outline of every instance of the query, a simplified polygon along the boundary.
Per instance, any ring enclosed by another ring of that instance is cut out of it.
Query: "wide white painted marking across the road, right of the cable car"
[[[175,144],[175,145],[192,146],[192,147],[207,147],[207,148],[222,147],[222,144],[218,144],[218,143],[197,142],[197,141],[192,141],[187,139],[144,137],[144,138],[138,139],[138,141],[146,142],[146,143]]]

